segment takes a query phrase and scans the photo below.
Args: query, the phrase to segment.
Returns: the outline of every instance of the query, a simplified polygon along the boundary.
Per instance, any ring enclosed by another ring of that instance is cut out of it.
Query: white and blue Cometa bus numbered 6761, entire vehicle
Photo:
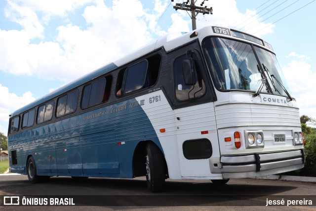
[[[271,45],[223,27],[166,35],[10,115],[10,171],[260,177],[304,167],[299,109]]]

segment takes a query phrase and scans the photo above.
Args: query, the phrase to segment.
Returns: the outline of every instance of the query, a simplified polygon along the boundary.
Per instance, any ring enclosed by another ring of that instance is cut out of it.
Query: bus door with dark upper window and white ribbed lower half
[[[220,158],[215,94],[198,49],[198,42],[178,49],[173,62],[174,115],[182,178],[212,176],[210,160]]]

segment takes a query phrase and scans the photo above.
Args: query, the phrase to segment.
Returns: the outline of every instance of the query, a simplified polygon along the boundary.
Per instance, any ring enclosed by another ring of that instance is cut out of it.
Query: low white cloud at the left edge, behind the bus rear
[[[30,91],[26,91],[22,96],[9,92],[9,88],[0,84],[0,122],[9,123],[9,115],[35,100]],[[7,128],[0,125],[0,132],[7,133]]]

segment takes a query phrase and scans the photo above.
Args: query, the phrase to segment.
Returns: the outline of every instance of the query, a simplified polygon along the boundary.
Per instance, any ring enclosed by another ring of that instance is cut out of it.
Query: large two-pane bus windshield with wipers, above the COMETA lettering
[[[284,84],[275,54],[256,46],[253,48],[248,43],[224,38],[206,39],[204,52],[218,90],[257,91],[263,86],[261,92],[287,96],[284,89],[288,90],[288,86]]]

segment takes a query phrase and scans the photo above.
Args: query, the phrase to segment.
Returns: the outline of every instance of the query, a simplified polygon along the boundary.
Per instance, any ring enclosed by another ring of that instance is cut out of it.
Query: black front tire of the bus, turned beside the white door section
[[[164,188],[165,166],[163,155],[152,142],[146,146],[146,180],[147,187],[153,193],[160,192]]]

